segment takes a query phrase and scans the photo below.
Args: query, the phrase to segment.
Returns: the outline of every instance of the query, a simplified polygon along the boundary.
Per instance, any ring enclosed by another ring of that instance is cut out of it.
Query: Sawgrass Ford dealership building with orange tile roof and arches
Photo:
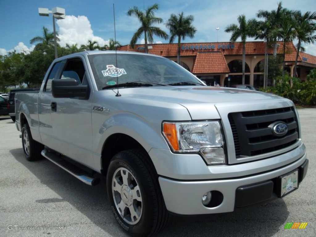
[[[277,55],[283,54],[283,42],[277,42]],[[121,46],[118,50],[144,52],[144,45]],[[151,44],[148,53],[159,55],[177,61],[177,44]],[[286,44],[286,70],[293,75],[296,58],[296,48],[292,42]],[[221,86],[242,84],[242,43],[183,43],[180,47],[181,65],[196,75],[208,85],[214,82]],[[267,51],[273,55],[273,47]],[[246,42],[245,84],[254,87],[264,86],[264,55],[265,42]],[[297,61],[297,76],[305,81],[309,72],[316,68],[316,56],[300,52]],[[269,78],[268,86],[272,84]]]

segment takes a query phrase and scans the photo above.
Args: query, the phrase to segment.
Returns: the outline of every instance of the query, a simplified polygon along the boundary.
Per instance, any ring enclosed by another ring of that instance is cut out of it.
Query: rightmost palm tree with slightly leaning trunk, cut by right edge
[[[296,11],[294,14],[294,19],[294,29],[296,33],[295,38],[298,39],[293,75],[293,77],[296,77],[297,59],[301,49],[301,43],[311,44],[316,40],[316,35],[313,35],[313,33],[316,31],[316,23],[314,22],[314,20],[316,20],[316,12],[312,13],[308,11],[302,15],[301,11]],[[304,52],[305,49],[302,48],[302,51]]]

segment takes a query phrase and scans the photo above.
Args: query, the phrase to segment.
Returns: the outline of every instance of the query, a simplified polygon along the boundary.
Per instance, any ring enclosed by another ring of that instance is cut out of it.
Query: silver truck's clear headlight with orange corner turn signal
[[[163,122],[162,134],[174,152],[199,152],[207,164],[226,164],[219,121]]]

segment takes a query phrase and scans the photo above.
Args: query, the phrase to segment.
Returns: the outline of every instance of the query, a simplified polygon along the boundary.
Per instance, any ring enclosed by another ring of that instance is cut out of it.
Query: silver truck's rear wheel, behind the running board
[[[44,146],[33,140],[28,124],[24,124],[22,127],[22,146],[28,161],[36,161],[43,158],[41,152]]]

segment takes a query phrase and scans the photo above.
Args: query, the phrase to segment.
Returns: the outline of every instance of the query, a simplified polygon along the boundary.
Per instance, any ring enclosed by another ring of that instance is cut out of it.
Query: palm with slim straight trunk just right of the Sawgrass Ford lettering
[[[246,61],[246,39],[247,36],[252,37],[253,31],[252,26],[255,22],[254,19],[246,21],[245,15],[238,16],[239,26],[236,24],[230,24],[225,28],[225,32],[232,32],[230,41],[236,41],[239,37],[242,42],[242,84],[245,84],[245,61]]]

